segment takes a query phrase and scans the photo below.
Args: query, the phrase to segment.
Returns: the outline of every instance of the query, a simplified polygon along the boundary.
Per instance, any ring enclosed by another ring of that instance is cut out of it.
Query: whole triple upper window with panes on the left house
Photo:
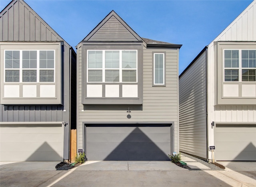
[[[5,82],[54,82],[54,53],[54,50],[6,50]]]

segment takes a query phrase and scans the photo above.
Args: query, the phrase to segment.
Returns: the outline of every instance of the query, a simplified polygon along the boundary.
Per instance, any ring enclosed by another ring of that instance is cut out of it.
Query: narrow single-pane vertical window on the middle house
[[[164,53],[154,53],[154,85],[164,85]]]

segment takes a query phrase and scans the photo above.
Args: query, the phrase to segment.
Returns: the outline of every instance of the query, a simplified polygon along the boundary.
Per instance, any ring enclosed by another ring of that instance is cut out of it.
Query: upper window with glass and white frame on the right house
[[[256,50],[224,50],[224,81],[256,81]]]

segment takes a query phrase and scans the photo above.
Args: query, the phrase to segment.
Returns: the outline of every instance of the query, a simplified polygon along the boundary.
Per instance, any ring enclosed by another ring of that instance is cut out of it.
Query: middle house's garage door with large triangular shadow
[[[171,128],[164,125],[86,126],[88,160],[168,160]]]

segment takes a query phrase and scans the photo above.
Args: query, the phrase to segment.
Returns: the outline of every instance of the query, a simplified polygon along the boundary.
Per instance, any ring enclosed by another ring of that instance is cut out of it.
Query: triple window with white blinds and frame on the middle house
[[[87,82],[137,82],[137,50],[88,50]]]

